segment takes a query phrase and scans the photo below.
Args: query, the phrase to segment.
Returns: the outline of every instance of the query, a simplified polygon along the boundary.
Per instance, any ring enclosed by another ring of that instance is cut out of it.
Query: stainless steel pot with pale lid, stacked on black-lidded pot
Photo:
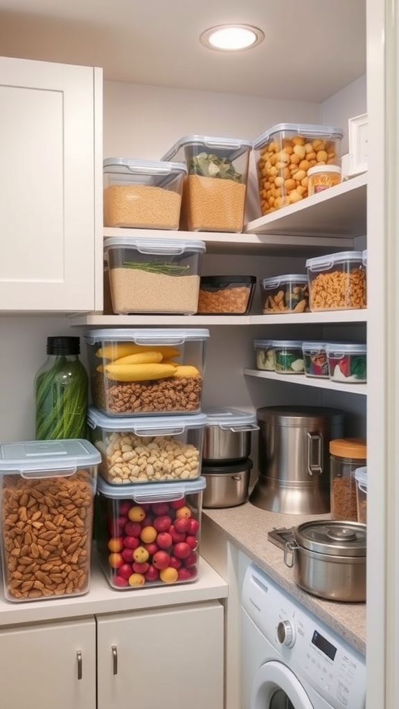
[[[251,434],[259,429],[256,415],[228,408],[205,409],[202,461],[208,465],[245,460],[251,454]]]

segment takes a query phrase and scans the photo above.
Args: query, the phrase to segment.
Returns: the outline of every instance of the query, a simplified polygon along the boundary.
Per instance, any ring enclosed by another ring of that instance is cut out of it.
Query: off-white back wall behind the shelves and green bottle
[[[104,157],[124,156],[158,160],[182,135],[194,133],[226,135],[253,140],[275,123],[319,123],[325,119],[331,125],[346,127],[349,116],[362,113],[365,106],[365,86],[359,79],[351,86],[318,104],[275,101],[250,96],[214,94],[206,91],[162,89],[114,82],[104,85]],[[248,187],[248,213],[258,216],[256,182],[252,164],[252,181]],[[247,218],[254,218],[248,216]],[[234,272],[244,269],[255,275],[281,273],[281,262],[270,257],[242,259],[217,257],[204,259],[208,273]],[[295,271],[300,267],[293,262]],[[275,270],[277,269],[277,270]],[[303,269],[300,269],[300,272]],[[45,361],[48,335],[82,335],[84,328],[72,328],[65,316],[3,316],[0,318],[0,440],[29,440],[33,437],[33,380],[35,372]],[[242,367],[251,366],[253,337],[263,337],[264,328],[228,328],[222,333],[214,328],[209,345],[204,397],[206,403],[243,408],[266,406],[258,381],[246,381]],[[299,333],[295,333],[300,337]],[[273,333],[271,336],[277,336]],[[288,336],[284,333],[284,337]],[[84,341],[82,361],[87,363]],[[229,386],[226,400],[222,401],[226,386],[218,376],[221,367],[229,361],[236,373],[233,386]],[[272,383],[273,384],[273,383]],[[294,387],[294,389],[298,389]],[[299,388],[301,389],[301,388]],[[274,391],[270,386],[270,391]],[[280,387],[281,391],[281,387]],[[285,388],[292,403],[302,392]]]

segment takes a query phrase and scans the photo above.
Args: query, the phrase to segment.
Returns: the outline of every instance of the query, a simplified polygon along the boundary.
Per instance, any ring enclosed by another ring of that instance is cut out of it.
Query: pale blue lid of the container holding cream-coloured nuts
[[[137,435],[177,435],[186,428],[202,428],[208,418],[204,413],[190,416],[107,416],[94,406],[89,406],[87,423],[91,428],[99,426],[107,431],[133,431]]]

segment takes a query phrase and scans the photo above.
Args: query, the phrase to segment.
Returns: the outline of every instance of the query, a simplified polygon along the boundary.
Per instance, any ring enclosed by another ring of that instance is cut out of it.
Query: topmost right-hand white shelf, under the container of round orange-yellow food
[[[246,224],[251,234],[291,237],[354,238],[364,236],[366,222],[367,173],[353,177],[306,199],[282,207]]]

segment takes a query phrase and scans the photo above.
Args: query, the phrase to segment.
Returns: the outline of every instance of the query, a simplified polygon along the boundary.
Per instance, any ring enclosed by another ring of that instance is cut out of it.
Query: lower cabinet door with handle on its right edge
[[[1,709],[96,709],[95,626],[92,619],[0,630]]]

